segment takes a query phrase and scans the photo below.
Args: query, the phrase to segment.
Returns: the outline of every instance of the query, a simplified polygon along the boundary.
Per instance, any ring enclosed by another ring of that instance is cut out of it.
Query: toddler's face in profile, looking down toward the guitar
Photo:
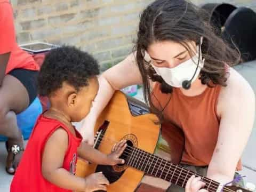
[[[82,87],[77,93],[75,98],[70,95],[71,100],[69,102],[74,102],[70,108],[70,117],[72,122],[79,122],[85,118],[92,107],[92,102],[94,101],[98,90],[99,82],[97,77],[89,79],[89,85]]]

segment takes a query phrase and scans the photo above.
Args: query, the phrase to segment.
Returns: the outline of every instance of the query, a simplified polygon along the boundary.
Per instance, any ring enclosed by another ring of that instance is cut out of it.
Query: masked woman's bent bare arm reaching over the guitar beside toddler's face
[[[114,92],[135,84],[142,84],[142,79],[133,53],[122,62],[106,70],[99,77],[99,92],[93,102],[89,115],[83,121],[81,129],[84,141],[93,145],[94,124]]]

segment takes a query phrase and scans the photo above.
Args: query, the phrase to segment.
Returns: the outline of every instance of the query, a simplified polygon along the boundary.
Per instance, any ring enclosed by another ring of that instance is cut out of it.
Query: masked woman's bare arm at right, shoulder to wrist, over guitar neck
[[[222,183],[233,180],[236,165],[252,130],[255,112],[254,92],[234,69],[230,69],[227,84],[219,95],[219,135],[207,172],[208,177]]]

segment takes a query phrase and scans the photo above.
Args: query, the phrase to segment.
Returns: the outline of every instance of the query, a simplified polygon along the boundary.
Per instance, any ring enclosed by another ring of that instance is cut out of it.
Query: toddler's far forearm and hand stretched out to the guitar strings
[[[92,146],[85,142],[81,143],[81,146],[77,149],[79,157],[86,159],[89,162],[100,164],[100,165],[116,165],[123,164],[124,160],[120,159],[119,156],[123,153],[126,147],[126,141],[123,140],[118,142],[112,150],[111,154],[103,154],[99,150],[94,149]]]

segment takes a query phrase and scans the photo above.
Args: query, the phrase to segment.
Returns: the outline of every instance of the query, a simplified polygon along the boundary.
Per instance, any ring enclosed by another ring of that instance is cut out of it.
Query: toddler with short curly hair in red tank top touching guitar
[[[114,152],[105,155],[81,145],[82,137],[71,124],[89,113],[99,88],[98,74],[97,61],[74,46],[54,49],[46,56],[38,89],[39,94],[49,97],[51,107],[37,120],[11,192],[106,190],[109,182],[102,173],[87,178],[75,175],[77,155],[97,164],[124,163],[119,156],[125,141],[118,142]]]

